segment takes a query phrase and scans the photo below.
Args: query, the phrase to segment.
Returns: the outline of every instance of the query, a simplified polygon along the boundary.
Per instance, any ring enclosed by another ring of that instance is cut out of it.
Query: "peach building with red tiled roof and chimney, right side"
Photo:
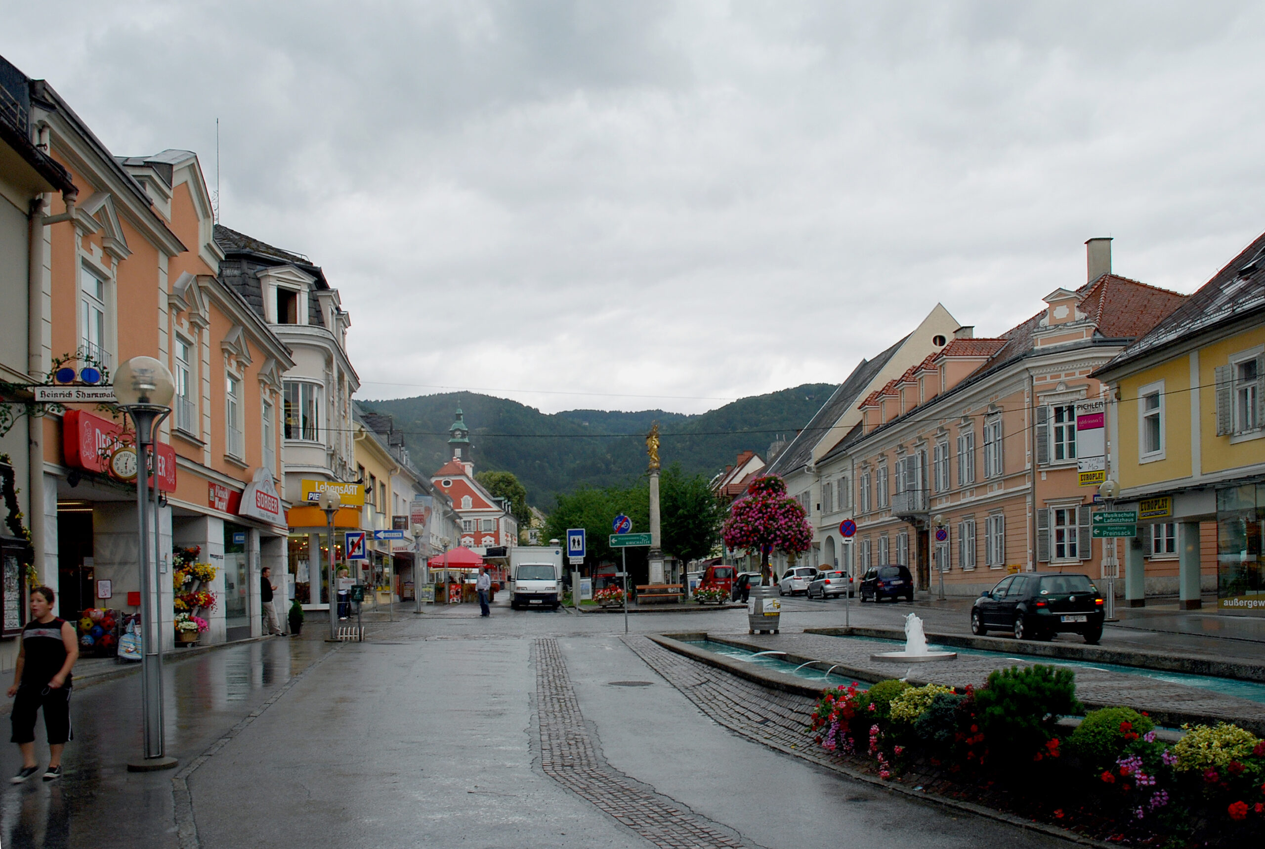
[[[1112,275],[1109,242],[1088,244],[1084,286],[1046,295],[1001,337],[959,334],[860,401],[858,425],[818,463],[853,481],[858,573],[902,563],[920,590],[942,574],[959,596],[1013,571],[1102,577],[1097,481],[1078,472],[1087,429],[1102,433],[1090,373],[1184,296]]]

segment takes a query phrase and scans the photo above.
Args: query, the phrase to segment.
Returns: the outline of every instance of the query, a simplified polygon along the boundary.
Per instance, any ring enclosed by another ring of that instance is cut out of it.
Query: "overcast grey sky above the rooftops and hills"
[[[214,191],[220,119],[221,221],[325,268],[361,397],[696,412],[936,301],[1001,333],[1089,237],[1189,292],[1265,230],[1259,3],[4,5],[115,154]]]

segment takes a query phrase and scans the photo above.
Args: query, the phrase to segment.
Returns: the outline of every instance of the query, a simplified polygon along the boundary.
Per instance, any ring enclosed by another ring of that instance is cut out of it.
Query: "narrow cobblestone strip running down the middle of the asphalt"
[[[579,712],[558,640],[538,639],[534,648],[540,767],[546,776],[657,846],[753,845],[607,765]]]

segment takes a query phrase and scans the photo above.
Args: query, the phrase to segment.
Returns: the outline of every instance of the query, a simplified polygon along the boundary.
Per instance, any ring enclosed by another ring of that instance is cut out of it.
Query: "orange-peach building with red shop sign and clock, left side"
[[[159,610],[170,623],[172,548],[197,545],[199,559],[220,567],[207,587],[216,605],[200,614],[211,624],[204,641],[256,635],[259,568],[285,562],[277,411],[290,352],[218,278],[223,254],[197,157],[115,157],[47,82],[27,86],[32,138],[77,189],[70,202],[46,195],[33,221],[33,371],[66,359],[113,372],[142,354],[171,368],[177,395],[156,474]],[[128,430],[110,409],[66,405],[37,433],[35,564],[65,616],[138,610],[135,488],[102,462]],[[163,634],[171,644],[170,626]]]

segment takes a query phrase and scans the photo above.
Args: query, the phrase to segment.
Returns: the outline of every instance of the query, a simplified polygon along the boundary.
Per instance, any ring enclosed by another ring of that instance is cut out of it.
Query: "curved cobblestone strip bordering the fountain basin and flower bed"
[[[1060,838],[1070,843],[1108,849],[1111,844],[1085,838],[1073,831],[997,811],[983,805],[916,791],[912,787],[882,781],[859,769],[844,765],[837,758],[813,743],[806,729],[812,724],[816,700],[798,693],[762,687],[745,678],[729,674],[684,655],[670,652],[648,636],[624,636],[624,643],[668,683],[679,690],[705,715],[725,728],[797,758],[803,758],[832,772],[882,787],[891,792],[926,800],[978,816],[998,820]]]

